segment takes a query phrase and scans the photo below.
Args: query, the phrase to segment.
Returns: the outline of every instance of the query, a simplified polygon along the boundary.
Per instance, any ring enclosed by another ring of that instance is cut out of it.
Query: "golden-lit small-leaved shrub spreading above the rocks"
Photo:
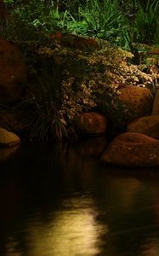
[[[104,96],[105,102],[110,99],[112,103],[118,88],[130,84],[146,86],[152,84],[152,76],[143,73],[139,67],[128,64],[127,59],[132,55],[122,49],[105,47],[105,49],[88,50],[88,48],[80,49],[79,45],[78,48],[71,49],[57,44],[54,49],[40,47],[37,53],[49,58],[54,56],[57,62],[65,60],[61,73],[60,117],[67,125],[71,125],[74,117],[79,113],[101,110],[101,106],[104,105],[100,102],[103,102]],[[108,102],[109,106],[111,106],[110,102]],[[126,111],[125,107],[120,106],[116,103],[115,108],[118,112]]]

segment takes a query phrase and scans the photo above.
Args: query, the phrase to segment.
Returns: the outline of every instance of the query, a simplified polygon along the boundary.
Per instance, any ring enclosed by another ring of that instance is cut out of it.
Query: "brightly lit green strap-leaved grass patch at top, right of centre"
[[[70,0],[67,2],[70,3]],[[69,15],[66,23],[69,32],[107,39],[128,49],[128,20],[122,14],[118,0],[88,0],[79,4],[78,8],[76,5]]]

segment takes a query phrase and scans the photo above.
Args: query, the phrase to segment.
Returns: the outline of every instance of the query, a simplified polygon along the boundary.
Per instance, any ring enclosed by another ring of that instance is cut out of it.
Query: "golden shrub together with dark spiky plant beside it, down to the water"
[[[118,89],[130,84],[151,88],[153,71],[142,72],[145,66],[128,63],[131,53],[107,42],[98,40],[99,48],[94,49],[90,38],[55,36],[50,40],[43,35],[40,42],[16,42],[29,67],[29,94],[13,109],[25,137],[40,142],[59,140],[67,136],[75,116],[89,110],[105,113],[112,132],[122,131],[131,109],[119,102]]]

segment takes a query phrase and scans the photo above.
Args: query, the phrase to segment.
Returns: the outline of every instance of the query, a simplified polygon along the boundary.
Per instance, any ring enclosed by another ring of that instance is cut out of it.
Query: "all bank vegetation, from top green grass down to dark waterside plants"
[[[25,137],[60,140],[77,114],[92,110],[105,113],[116,131],[120,117],[131,115],[119,101],[119,89],[141,84],[155,92],[158,59],[153,66],[146,58],[147,32],[143,28],[141,40],[139,30],[145,13],[151,15],[147,22],[158,24],[158,2],[138,3],[139,11],[130,2],[125,10],[122,2],[6,0],[13,22],[4,34],[19,45],[28,66],[27,96],[11,110],[20,115]],[[158,37],[153,29],[150,44]]]

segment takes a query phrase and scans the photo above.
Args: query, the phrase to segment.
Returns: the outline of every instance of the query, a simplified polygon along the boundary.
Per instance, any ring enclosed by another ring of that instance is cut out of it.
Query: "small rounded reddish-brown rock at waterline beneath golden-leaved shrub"
[[[101,135],[106,131],[107,120],[101,113],[81,113],[75,118],[77,132],[86,135]]]

